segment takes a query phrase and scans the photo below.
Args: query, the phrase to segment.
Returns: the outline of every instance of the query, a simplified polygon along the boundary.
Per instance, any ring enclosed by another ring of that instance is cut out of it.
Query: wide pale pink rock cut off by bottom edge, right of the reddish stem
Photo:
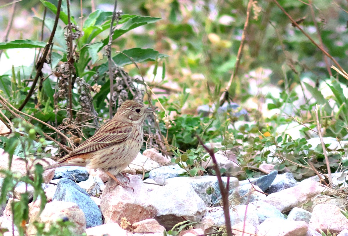
[[[258,226],[258,235],[306,236],[308,225],[304,221],[268,218]]]

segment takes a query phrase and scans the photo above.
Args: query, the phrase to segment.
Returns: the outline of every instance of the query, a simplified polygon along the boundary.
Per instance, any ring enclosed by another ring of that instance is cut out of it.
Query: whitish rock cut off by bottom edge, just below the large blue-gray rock
[[[127,231],[115,222],[88,228],[86,229],[86,234],[87,236],[128,236]]]

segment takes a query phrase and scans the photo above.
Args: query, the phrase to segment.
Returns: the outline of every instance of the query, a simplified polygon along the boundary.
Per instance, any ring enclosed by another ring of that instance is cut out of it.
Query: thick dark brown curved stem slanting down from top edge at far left
[[[29,101],[31,95],[34,92],[34,89],[35,89],[35,86],[36,86],[36,84],[38,82],[39,77],[42,76],[42,71],[41,70],[44,67],[44,63],[46,62],[46,56],[47,56],[49,48],[50,48],[50,46],[52,44],[54,34],[56,33],[58,20],[59,20],[59,15],[60,15],[60,12],[61,12],[61,6],[62,6],[62,0],[58,0],[57,13],[56,13],[56,18],[54,19],[54,25],[53,25],[53,29],[52,29],[51,35],[50,35],[50,37],[48,39],[48,42],[47,42],[47,44],[45,46],[44,52],[42,53],[42,56],[41,56],[40,60],[36,64],[36,75],[35,75],[35,78],[33,80],[33,84],[31,86],[28,94],[26,95],[22,105],[18,108],[19,111],[21,111],[24,108],[25,104]]]

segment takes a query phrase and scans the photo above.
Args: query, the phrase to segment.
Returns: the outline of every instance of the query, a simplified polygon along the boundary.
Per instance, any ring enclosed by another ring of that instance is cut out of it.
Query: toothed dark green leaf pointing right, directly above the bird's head
[[[124,50],[122,53],[118,53],[112,59],[118,66],[124,66],[133,63],[132,60],[129,59],[129,57],[131,57],[135,63],[141,63],[146,61],[155,61],[156,58],[163,58],[167,56],[168,55],[161,54],[151,48],[131,48]]]

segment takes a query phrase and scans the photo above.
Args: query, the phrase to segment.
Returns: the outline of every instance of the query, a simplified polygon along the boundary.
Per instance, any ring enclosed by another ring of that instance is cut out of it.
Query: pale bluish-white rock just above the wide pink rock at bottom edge
[[[269,203],[257,201],[248,204],[248,206],[250,205],[256,206],[256,215],[258,215],[259,217],[260,224],[268,218],[278,218],[285,220],[283,213]]]

